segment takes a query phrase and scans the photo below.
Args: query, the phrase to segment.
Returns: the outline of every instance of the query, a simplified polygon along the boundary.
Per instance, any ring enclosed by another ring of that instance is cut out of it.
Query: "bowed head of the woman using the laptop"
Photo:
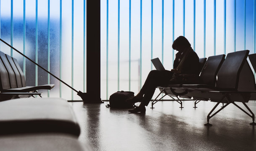
[[[184,36],[179,36],[177,39],[174,40],[172,44],[172,48],[179,52],[183,52],[186,48],[191,47],[191,44]]]

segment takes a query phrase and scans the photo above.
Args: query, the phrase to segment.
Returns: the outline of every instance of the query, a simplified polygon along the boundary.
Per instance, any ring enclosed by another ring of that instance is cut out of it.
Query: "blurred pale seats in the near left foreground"
[[[77,140],[80,126],[61,98],[21,98],[0,102],[3,151],[92,151]]]

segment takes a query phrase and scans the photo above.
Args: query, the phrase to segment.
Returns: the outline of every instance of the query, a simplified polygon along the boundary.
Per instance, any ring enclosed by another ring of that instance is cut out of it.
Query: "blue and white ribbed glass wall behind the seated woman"
[[[86,0],[0,0],[0,37],[75,89],[86,92]],[[255,53],[255,0],[101,0],[101,99],[137,93],[150,59],[172,68],[172,42],[186,36],[199,57]],[[79,100],[58,80],[16,57],[27,85],[54,83],[44,97]]]

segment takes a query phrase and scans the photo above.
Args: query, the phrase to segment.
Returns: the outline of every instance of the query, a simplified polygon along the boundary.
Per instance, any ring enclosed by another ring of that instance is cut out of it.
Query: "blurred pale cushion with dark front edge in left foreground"
[[[0,135],[68,133],[80,127],[68,102],[61,98],[22,98],[0,102]]]

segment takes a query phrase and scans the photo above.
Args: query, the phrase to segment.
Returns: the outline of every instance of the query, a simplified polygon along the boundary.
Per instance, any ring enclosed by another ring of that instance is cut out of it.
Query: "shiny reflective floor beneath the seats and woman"
[[[158,102],[145,114],[106,108],[108,102],[70,104],[81,127],[79,141],[95,151],[256,151],[256,126],[233,104],[212,117],[210,127],[204,124],[214,102],[201,101],[196,109],[194,101],[183,102],[183,109],[177,102]],[[256,101],[247,105],[256,114]]]

